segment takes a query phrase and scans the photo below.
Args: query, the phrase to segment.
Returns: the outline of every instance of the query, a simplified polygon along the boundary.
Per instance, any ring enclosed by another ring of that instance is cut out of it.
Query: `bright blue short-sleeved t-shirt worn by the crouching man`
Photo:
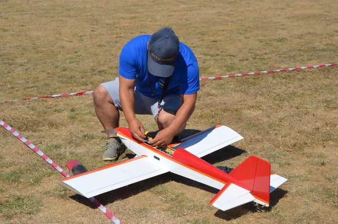
[[[120,54],[119,74],[127,79],[136,79],[136,89],[150,98],[160,98],[166,78],[151,75],[147,69],[147,42],[150,35],[133,38]],[[150,83],[153,91],[150,88]],[[180,52],[171,75],[168,94],[192,94],[200,89],[197,59],[191,49],[180,42]]]

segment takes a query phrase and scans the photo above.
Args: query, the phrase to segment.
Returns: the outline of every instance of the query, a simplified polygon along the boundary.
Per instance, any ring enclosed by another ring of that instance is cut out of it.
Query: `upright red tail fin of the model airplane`
[[[269,206],[270,163],[256,156],[250,156],[229,175],[250,187],[254,202]]]

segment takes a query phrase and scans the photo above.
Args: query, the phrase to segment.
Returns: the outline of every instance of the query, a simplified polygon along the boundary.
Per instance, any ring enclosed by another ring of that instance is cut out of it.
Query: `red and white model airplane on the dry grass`
[[[270,192],[285,178],[270,173],[270,163],[250,156],[229,173],[200,159],[243,137],[218,125],[168,147],[152,147],[135,140],[129,129],[116,128],[118,137],[136,157],[60,180],[76,193],[90,198],[166,172],[172,172],[220,189],[210,204],[225,211],[248,202],[269,206]]]

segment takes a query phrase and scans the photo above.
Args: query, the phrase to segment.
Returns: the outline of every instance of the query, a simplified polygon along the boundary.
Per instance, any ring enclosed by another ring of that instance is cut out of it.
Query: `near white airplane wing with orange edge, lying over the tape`
[[[169,170],[148,156],[94,169],[60,180],[61,184],[86,198],[148,179]]]

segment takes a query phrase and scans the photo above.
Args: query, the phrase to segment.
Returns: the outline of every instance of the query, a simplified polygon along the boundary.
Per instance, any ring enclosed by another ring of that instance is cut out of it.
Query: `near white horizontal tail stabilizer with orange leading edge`
[[[244,205],[255,200],[250,191],[237,185],[227,183],[210,201],[210,204],[223,210]]]

